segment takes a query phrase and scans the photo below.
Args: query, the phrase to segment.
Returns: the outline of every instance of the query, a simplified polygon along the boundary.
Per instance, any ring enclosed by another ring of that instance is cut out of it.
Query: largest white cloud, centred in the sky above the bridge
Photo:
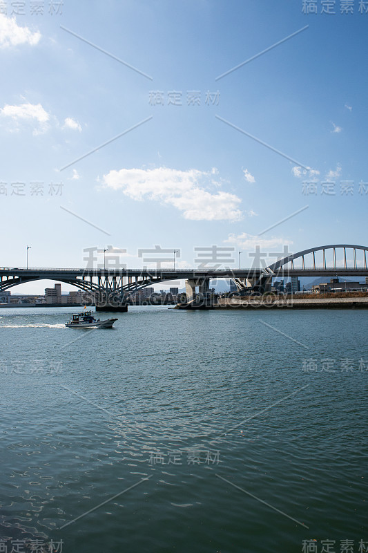
[[[206,189],[220,186],[213,182],[215,171],[178,171],[157,169],[120,169],[104,175],[104,184],[113,190],[122,190],[133,200],[155,200],[173,205],[184,218],[191,221],[240,221],[241,199],[222,190],[215,194]]]

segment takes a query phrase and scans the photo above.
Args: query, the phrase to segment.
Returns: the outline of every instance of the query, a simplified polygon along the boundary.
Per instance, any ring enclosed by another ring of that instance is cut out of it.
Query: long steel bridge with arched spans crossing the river
[[[44,279],[74,285],[91,292],[96,308],[126,310],[126,297],[146,286],[173,280],[186,281],[188,299],[196,289],[209,295],[213,279],[233,279],[238,290],[271,290],[273,279],[289,277],[368,277],[367,246],[332,244],[312,247],[290,254],[264,268],[240,269],[65,269],[65,268],[0,268],[0,292],[19,284]]]

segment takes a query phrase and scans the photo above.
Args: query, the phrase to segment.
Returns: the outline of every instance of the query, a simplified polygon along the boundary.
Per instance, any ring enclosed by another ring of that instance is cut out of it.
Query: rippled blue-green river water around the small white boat
[[[2,538],[368,542],[367,311],[133,307],[111,330],[65,328],[70,312],[0,310]]]

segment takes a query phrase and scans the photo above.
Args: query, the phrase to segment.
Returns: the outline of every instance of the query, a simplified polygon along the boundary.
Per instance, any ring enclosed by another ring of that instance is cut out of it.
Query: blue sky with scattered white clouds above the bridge
[[[182,268],[195,247],[233,247],[235,268],[256,244],[367,245],[368,2],[324,3],[1,3],[1,266],[25,266],[27,244],[32,267],[113,246],[128,268],[155,245]]]

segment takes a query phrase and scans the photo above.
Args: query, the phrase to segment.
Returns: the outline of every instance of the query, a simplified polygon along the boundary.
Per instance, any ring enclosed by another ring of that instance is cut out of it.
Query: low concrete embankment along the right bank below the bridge
[[[217,309],[368,309],[368,297],[257,299],[219,298]]]

